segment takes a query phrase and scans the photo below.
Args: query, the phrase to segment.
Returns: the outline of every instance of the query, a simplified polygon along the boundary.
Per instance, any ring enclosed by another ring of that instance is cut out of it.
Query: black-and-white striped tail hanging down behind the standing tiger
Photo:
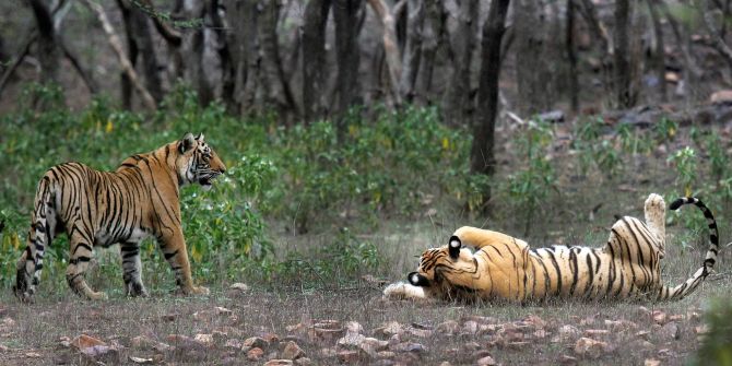
[[[22,302],[33,298],[36,285],[40,281],[40,270],[44,268],[44,251],[51,244],[51,228],[49,215],[54,215],[54,187],[51,177],[46,175],[38,182],[36,202],[28,231],[28,244],[17,260],[17,275],[13,292]]]

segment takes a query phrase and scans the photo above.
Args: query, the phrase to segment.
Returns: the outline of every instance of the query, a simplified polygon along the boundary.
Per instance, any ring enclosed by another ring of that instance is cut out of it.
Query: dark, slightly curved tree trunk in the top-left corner
[[[40,80],[44,83],[58,82],[59,49],[56,45],[56,29],[51,13],[43,0],[29,0],[38,28],[38,61]]]

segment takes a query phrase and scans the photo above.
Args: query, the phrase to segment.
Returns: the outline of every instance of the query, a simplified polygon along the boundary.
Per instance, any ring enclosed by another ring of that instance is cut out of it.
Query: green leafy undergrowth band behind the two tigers
[[[35,186],[46,169],[67,161],[114,169],[125,157],[189,131],[204,133],[228,167],[211,191],[191,186],[180,194],[194,276],[210,286],[349,286],[365,274],[412,270],[414,256],[461,225],[485,225],[539,245],[569,232],[581,238],[589,227],[612,225],[613,214],[642,216],[651,191],[668,201],[700,194],[720,221],[732,203],[729,142],[713,128],[682,138],[666,119],[638,130],[590,118],[565,131],[531,120],[497,139],[501,164],[487,179],[470,174],[470,129],[445,126],[432,107],[353,109],[339,140],[331,120],[284,127],[275,115],[233,117],[219,104],[200,107],[185,86],[152,115],[121,110],[104,97],[69,110],[63,98],[57,87],[31,85],[17,111],[0,117],[3,288],[14,280]],[[560,132],[569,133],[567,143]],[[668,153],[659,156],[661,145]],[[486,185],[493,192],[487,217],[477,213]],[[619,193],[616,187],[624,185],[635,191]],[[590,214],[599,203],[600,219]],[[428,223],[439,234],[385,248],[400,223]],[[692,228],[684,231],[683,246],[704,243],[700,214],[672,214],[669,223]],[[117,250],[97,251],[93,286],[121,288]],[[46,258],[42,288],[67,291],[64,236]],[[172,291],[155,244],[143,244],[142,259],[151,291]]]

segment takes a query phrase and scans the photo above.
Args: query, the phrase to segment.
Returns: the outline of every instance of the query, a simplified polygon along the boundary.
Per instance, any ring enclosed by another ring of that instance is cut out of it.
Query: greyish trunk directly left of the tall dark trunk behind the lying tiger
[[[458,26],[451,35],[452,78],[450,80],[445,118],[449,125],[461,126],[470,121],[474,104],[471,102],[470,71],[477,38],[480,1],[464,0],[458,10]]]

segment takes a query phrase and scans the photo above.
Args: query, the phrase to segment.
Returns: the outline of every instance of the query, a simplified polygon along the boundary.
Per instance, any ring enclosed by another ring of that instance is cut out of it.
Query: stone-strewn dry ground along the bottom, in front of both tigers
[[[5,294],[0,364],[681,365],[707,330],[710,290],[656,307],[391,303],[377,286],[34,305]]]

